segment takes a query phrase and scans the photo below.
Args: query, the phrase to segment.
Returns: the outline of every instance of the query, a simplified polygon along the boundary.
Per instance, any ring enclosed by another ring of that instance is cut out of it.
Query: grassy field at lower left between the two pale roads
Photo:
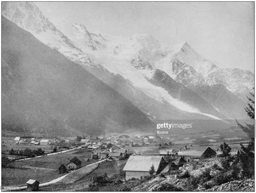
[[[61,164],[66,166],[75,156],[82,161],[82,166],[96,162],[87,162],[90,152],[81,150],[15,161],[12,162],[14,168],[2,169],[2,185],[25,185],[29,179],[38,180],[40,183],[49,182],[64,175],[58,174],[59,166]]]

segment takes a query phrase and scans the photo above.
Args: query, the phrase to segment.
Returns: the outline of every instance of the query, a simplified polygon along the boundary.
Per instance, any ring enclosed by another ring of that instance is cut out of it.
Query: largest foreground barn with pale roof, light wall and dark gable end
[[[150,176],[149,170],[152,164],[156,170],[154,174],[159,174],[161,170],[166,167],[163,156],[131,155],[123,169],[125,171],[125,180],[129,180],[133,177],[140,179],[145,176]]]

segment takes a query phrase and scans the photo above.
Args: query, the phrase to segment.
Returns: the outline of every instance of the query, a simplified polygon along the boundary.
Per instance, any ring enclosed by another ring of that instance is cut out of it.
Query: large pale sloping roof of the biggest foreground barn
[[[124,171],[149,171],[152,164],[157,171],[163,156],[131,155],[127,160]]]

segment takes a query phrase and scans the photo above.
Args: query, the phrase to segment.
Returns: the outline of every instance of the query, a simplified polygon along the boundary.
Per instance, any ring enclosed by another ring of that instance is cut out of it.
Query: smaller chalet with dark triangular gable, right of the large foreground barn
[[[179,151],[178,156],[185,158],[186,162],[191,162],[194,159],[205,159],[216,157],[217,153],[212,148],[208,147],[205,150],[184,150]]]

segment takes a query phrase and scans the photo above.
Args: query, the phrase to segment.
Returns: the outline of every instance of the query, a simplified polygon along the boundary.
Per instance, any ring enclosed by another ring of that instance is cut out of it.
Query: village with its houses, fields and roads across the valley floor
[[[93,177],[104,174],[113,179],[122,175],[122,184],[145,180],[152,175],[175,174],[173,178],[178,183],[179,178],[187,178],[199,166],[221,166],[224,155],[220,143],[207,140],[199,145],[189,138],[185,137],[180,143],[178,137],[173,140],[158,135],[54,139],[17,136],[12,140],[8,137],[2,141],[2,185],[6,187],[3,190],[59,190],[63,186],[67,189],[73,182],[78,184],[71,190],[87,187],[83,190],[89,191]],[[250,142],[235,137],[232,140],[229,141],[232,157],[237,156],[241,141]],[[10,171],[17,175],[9,175]],[[23,180],[19,174],[24,176]],[[81,186],[81,182],[84,185]]]

